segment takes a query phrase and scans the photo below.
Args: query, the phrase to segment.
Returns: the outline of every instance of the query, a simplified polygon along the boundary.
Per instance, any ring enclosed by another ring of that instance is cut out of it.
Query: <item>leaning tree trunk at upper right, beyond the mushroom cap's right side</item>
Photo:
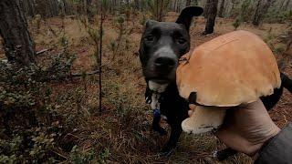
[[[260,21],[264,18],[264,15],[267,12],[269,6],[271,6],[275,1],[274,0],[266,0],[264,5],[262,4],[262,0],[258,0],[256,8],[255,8],[255,15],[253,18],[253,25],[259,26]]]

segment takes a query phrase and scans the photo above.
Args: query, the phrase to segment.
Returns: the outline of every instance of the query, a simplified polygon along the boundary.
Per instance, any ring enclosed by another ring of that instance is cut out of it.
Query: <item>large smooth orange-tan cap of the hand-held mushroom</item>
[[[176,71],[181,97],[204,106],[234,107],[273,94],[281,86],[276,58],[266,43],[235,31],[197,46]]]

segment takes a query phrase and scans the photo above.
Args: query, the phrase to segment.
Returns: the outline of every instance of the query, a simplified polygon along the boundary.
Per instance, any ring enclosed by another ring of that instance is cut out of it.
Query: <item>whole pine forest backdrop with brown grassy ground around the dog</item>
[[[175,21],[200,5],[192,48],[244,29],[265,40],[292,77],[292,0],[1,0],[0,163],[219,163],[224,145],[151,130],[138,49],[148,19]],[[270,115],[292,121],[291,95]],[[167,124],[163,127],[168,128]],[[252,163],[243,154],[223,163]]]

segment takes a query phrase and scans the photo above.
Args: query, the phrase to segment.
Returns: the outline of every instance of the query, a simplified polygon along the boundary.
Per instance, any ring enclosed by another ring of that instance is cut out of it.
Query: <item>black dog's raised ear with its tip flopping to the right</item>
[[[203,13],[203,8],[200,6],[185,7],[183,8],[181,15],[179,15],[175,23],[183,24],[183,26],[185,26],[185,28],[189,31],[193,16],[202,15],[202,13]]]

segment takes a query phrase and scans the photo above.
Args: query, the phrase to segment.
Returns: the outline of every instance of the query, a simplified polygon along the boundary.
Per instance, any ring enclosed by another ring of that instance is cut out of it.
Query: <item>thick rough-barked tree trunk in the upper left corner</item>
[[[35,62],[34,43],[26,27],[26,17],[16,0],[0,1],[0,35],[8,61],[22,65]]]

